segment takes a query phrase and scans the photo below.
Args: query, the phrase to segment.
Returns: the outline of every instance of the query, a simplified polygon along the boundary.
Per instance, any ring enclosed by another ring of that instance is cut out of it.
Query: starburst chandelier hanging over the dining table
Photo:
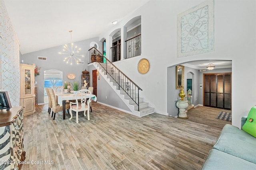
[[[72,61],[73,59],[76,61],[76,64],[79,63],[79,61],[81,61],[81,59],[79,59],[78,57],[84,57],[83,55],[78,55],[80,49],[77,49],[77,46],[74,47],[74,44],[72,43],[72,30],[68,31],[70,32],[71,35],[71,49],[68,48],[68,46],[65,44],[64,45],[64,49],[62,51],[64,52],[59,52],[59,54],[66,54],[68,55],[64,61],[66,61],[66,63],[68,64],[70,62],[70,65],[72,65]]]

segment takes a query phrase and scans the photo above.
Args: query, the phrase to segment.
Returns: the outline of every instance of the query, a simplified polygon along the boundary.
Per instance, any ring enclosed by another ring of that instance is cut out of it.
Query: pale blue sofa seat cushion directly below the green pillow
[[[213,148],[256,164],[256,138],[233,125],[223,127]]]

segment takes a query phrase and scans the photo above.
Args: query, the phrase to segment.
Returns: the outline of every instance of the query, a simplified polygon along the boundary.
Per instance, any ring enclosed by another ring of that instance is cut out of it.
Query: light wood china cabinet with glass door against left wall
[[[20,64],[20,106],[25,106],[24,116],[35,113],[34,65]]]

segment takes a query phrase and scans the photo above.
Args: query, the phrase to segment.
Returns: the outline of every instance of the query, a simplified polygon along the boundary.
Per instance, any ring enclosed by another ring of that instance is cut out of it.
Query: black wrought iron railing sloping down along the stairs
[[[128,76],[126,76],[121,70],[119,70],[111,61],[109,61],[100,51],[95,47],[88,50],[90,54],[90,63],[98,62],[107,75],[109,75],[118,85],[118,90],[124,90],[124,92],[135,102],[140,111],[140,90],[142,89],[135,84]]]

